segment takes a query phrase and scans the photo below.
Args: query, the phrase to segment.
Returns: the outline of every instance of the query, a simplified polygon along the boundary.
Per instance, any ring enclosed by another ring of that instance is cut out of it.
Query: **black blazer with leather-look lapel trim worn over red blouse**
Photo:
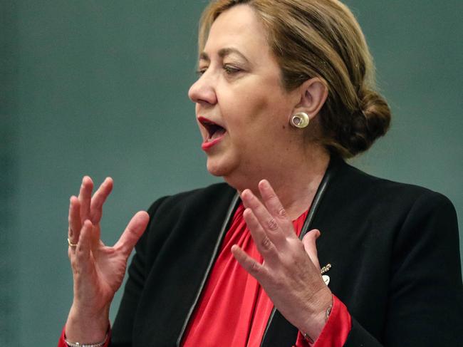
[[[333,266],[329,287],[353,318],[345,346],[463,346],[452,203],[422,187],[367,175],[342,160],[332,160],[328,173],[311,211],[311,228],[321,230],[320,263]],[[152,204],[110,346],[179,345],[234,199],[235,190],[222,183]],[[292,346],[296,334],[276,311],[261,346]]]

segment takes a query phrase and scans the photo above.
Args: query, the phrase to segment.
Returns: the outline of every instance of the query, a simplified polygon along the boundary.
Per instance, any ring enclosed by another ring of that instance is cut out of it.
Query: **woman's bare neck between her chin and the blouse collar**
[[[241,180],[232,182],[229,177],[224,177],[232,187],[240,193],[245,189],[250,189],[256,197],[261,199],[258,184],[266,179],[274,188],[281,204],[286,209],[286,213],[293,220],[305,212],[311,206],[318,186],[325,175],[330,161],[330,156],[326,150],[321,148],[311,148],[294,162],[272,162],[272,167],[279,170],[263,170],[257,168],[256,172],[243,175]],[[281,170],[283,167],[283,170]]]

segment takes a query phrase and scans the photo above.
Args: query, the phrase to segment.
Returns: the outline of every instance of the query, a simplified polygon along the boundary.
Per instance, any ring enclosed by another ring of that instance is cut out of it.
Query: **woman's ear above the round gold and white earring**
[[[302,83],[298,90],[300,90],[301,99],[294,108],[294,113],[305,112],[313,120],[328,98],[326,82],[322,78],[314,77]]]

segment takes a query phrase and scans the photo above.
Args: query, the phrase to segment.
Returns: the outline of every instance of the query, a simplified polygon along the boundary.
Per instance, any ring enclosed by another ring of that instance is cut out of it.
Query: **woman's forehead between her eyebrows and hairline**
[[[250,58],[270,53],[264,26],[250,6],[233,6],[212,24],[204,52],[210,55],[224,47],[235,48]]]

